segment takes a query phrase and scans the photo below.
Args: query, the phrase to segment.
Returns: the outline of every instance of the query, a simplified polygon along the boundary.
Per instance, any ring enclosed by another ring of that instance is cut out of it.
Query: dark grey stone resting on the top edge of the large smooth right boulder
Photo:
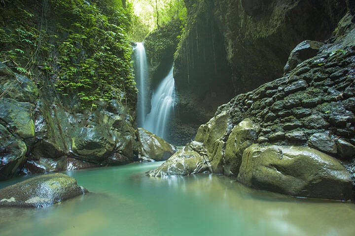
[[[328,135],[323,133],[316,133],[312,135],[308,140],[308,145],[312,148],[316,148],[322,152],[335,155],[338,151],[335,142],[329,138]]]

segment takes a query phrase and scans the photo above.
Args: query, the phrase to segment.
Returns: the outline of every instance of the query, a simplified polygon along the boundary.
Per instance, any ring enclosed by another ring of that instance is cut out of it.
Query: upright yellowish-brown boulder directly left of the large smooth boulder
[[[233,127],[224,151],[224,174],[237,176],[242,163],[243,152],[257,139],[259,127],[249,118]]]

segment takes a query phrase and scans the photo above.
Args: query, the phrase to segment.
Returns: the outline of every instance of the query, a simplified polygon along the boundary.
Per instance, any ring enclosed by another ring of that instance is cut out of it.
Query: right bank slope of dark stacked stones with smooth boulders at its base
[[[332,41],[311,58],[298,57],[301,62],[282,78],[236,96],[200,126],[195,141],[203,143],[213,173],[293,196],[354,200],[352,18],[346,15]],[[301,54],[301,46],[293,55]]]

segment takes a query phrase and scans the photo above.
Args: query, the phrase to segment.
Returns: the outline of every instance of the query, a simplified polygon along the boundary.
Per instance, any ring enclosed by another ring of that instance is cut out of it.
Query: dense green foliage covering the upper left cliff
[[[134,107],[130,15],[122,1],[34,2],[5,0],[0,60],[28,76],[39,71],[36,78],[49,78],[60,96],[78,96],[84,107],[110,99]]]

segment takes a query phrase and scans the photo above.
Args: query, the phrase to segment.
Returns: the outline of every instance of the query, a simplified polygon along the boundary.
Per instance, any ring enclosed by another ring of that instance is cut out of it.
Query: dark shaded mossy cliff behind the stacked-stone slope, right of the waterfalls
[[[175,140],[192,139],[201,123],[233,96],[282,76],[301,41],[326,40],[345,0],[185,0],[186,34],[175,58]],[[174,127],[173,127],[174,129]]]

